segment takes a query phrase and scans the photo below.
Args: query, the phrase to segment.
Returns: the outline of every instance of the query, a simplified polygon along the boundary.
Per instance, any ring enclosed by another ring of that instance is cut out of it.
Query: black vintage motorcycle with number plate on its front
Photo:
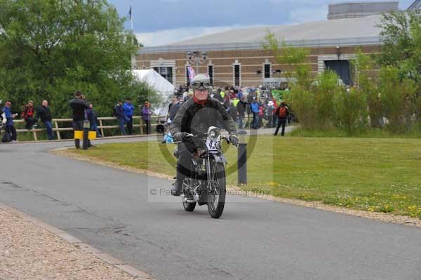
[[[226,178],[225,164],[227,159],[222,153],[221,142],[229,138],[222,136],[220,129],[211,126],[203,135],[190,135],[193,140],[199,142],[199,147],[192,157],[192,177],[185,178],[182,183],[182,206],[185,211],[192,212],[196,207],[208,205],[209,215],[212,218],[220,218],[225,206]],[[175,149],[175,157],[178,157],[178,149]]]

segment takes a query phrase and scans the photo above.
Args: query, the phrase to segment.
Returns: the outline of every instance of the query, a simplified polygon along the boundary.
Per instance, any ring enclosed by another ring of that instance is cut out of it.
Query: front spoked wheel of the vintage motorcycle
[[[210,186],[208,192],[208,211],[212,218],[218,219],[222,215],[225,206],[225,166],[218,162],[212,168],[212,177],[210,178]]]

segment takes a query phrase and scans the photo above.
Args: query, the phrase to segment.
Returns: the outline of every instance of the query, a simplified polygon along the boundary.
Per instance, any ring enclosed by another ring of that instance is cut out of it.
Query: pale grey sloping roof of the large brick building
[[[232,29],[226,32],[175,42],[167,46],[145,47],[140,53],[161,53],[173,51],[219,51],[233,49],[262,48],[267,30],[278,39],[293,46],[356,46],[379,45],[380,31],[376,27],[382,15],[365,18],[321,20],[295,25],[250,27]]]

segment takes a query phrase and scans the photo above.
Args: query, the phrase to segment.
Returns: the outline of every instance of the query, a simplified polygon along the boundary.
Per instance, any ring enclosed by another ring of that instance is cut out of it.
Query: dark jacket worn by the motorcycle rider
[[[208,97],[206,103],[200,105],[190,98],[181,105],[170,130],[172,135],[180,131],[198,135],[206,133],[210,126],[217,126],[218,121],[229,134],[236,134],[231,115],[218,100]]]

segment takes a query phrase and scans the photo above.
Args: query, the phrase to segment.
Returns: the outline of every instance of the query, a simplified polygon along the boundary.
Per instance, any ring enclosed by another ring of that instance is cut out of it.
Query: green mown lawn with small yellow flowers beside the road
[[[421,218],[421,140],[259,136],[254,149],[253,141],[248,141],[244,189]],[[173,175],[173,147],[138,142],[73,152]],[[236,185],[236,149],[229,147],[226,156],[228,184]]]

